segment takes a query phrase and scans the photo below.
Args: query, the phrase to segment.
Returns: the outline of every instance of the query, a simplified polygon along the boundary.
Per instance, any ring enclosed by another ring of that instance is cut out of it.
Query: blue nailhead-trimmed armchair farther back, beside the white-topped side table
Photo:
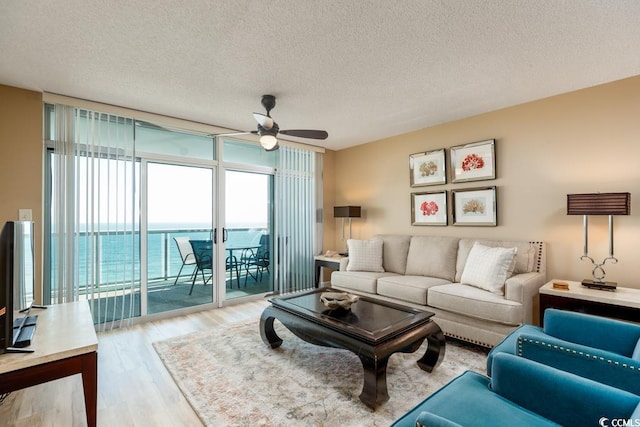
[[[542,328],[523,325],[487,359],[510,353],[640,395],[640,325],[547,309]]]

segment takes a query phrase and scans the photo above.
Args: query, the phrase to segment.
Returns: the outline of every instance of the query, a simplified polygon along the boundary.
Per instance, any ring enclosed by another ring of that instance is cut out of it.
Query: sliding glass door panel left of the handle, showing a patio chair
[[[146,313],[210,304],[217,283],[213,241],[215,169],[145,164]]]

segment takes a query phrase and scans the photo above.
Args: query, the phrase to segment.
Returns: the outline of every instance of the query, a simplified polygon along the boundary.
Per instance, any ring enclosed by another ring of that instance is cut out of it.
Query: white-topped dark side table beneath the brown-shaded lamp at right
[[[554,289],[553,280],[540,288],[541,324],[547,308],[640,322],[640,289],[618,287],[615,291],[602,291],[586,288],[580,282],[562,281],[569,284],[569,290]]]

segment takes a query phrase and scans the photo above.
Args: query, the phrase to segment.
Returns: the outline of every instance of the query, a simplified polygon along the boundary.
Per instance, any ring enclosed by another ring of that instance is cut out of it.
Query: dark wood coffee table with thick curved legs
[[[329,310],[320,301],[327,291],[339,292],[320,288],[270,299],[260,317],[262,341],[271,348],[282,344],[273,328],[278,319],[304,341],[357,354],[364,369],[360,400],[373,409],[389,400],[387,362],[393,353],[413,353],[426,338],[429,346],[418,366],[431,372],[442,361],[444,334],[431,320],[433,313],[367,297],[349,311]]]

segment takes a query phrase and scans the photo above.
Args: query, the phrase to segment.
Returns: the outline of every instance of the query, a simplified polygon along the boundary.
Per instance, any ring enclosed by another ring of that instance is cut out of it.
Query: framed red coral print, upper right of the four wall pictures
[[[496,178],[496,140],[451,147],[451,182],[484,181]]]

